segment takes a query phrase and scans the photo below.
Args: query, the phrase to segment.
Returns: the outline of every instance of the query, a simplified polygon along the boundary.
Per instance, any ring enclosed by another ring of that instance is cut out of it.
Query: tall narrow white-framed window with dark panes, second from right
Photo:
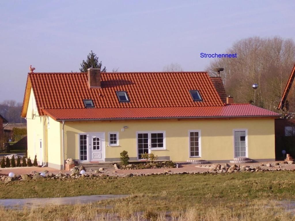
[[[200,130],[189,130],[189,157],[201,157]]]

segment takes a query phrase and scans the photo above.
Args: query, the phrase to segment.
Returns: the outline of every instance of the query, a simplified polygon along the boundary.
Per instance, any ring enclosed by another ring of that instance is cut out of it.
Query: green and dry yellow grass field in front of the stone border
[[[98,177],[64,181],[44,179],[1,184],[1,190],[2,199],[129,194],[130,197],[124,199],[79,207],[81,211],[83,208],[88,211],[90,207],[94,207],[98,213],[106,212],[103,208],[108,207],[107,212],[122,214],[123,217],[133,214],[134,211],[148,211],[147,213],[153,214],[155,211],[179,212],[193,208],[194,214],[190,214],[192,220],[213,220],[214,216],[221,217],[224,214],[228,216],[224,220],[294,220],[283,208],[272,208],[271,205],[280,200],[295,200],[295,172],[153,175],[105,179]],[[64,213],[65,217],[69,217],[72,207],[50,207],[50,210],[58,210],[61,214]],[[210,214],[208,208],[211,208]],[[50,217],[50,211],[48,208],[47,210],[42,212],[48,213]],[[212,214],[212,211],[218,212],[219,215]],[[30,211],[14,213],[16,216],[24,216],[26,212]],[[40,209],[30,213],[39,212]],[[203,219],[202,216],[209,218]]]

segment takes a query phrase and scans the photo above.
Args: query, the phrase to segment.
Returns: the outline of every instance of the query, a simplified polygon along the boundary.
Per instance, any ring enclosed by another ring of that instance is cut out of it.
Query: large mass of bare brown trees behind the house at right
[[[237,103],[253,103],[253,83],[258,84],[255,105],[275,110],[295,62],[295,43],[280,37],[242,39],[227,50],[237,58],[218,58],[210,63],[210,75],[223,67],[221,77],[228,95]]]

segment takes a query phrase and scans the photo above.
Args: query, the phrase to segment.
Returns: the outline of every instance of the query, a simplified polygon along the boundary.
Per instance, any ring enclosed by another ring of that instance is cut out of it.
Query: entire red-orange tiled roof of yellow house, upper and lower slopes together
[[[29,73],[22,117],[31,88],[39,115],[57,121],[279,116],[250,104],[226,105],[221,78],[207,72],[101,72],[101,88],[89,88],[87,73]],[[189,90],[203,100],[193,101]],[[116,91],[126,91],[130,102],[119,102]],[[83,99],[95,108],[85,108]]]

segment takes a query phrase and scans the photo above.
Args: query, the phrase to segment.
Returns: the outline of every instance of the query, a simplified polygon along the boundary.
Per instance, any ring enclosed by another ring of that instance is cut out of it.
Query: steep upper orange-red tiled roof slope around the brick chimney
[[[207,72],[101,72],[101,88],[89,88],[87,73],[29,73],[38,112],[42,109],[223,106]],[[130,103],[120,103],[116,91],[127,91]],[[203,101],[192,100],[199,90]]]

